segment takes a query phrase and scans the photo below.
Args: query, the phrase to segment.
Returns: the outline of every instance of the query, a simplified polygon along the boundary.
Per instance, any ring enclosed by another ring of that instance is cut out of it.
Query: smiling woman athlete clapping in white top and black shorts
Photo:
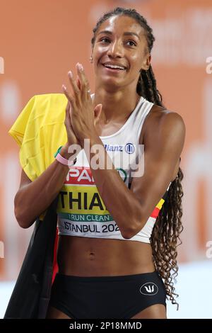
[[[47,318],[166,318],[165,299],[177,304],[172,278],[182,232],[185,128],[181,116],[163,106],[156,87],[154,40],[136,10],[106,13],[93,29],[94,94],[77,64],[64,94],[37,99],[51,106],[52,123],[61,109],[66,130],[56,159],[35,181],[22,171],[15,198],[16,218],[27,228],[59,193],[59,271]],[[55,98],[61,107],[54,109]],[[80,147],[76,154],[72,145]],[[94,145],[102,149],[94,152]],[[117,158],[139,145],[144,171],[132,176]],[[103,167],[93,166],[93,159]]]

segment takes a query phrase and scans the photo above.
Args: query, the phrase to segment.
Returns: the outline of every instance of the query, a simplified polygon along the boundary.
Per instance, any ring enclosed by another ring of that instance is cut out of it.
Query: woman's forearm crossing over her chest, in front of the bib
[[[90,140],[90,147],[97,144],[102,145],[102,141],[98,136],[95,136]],[[98,164],[103,165],[103,162],[105,163],[103,169],[93,169],[92,159],[95,157],[95,153],[90,152],[89,157],[88,152],[86,152],[86,156],[90,163],[93,179],[107,210],[117,222],[123,237],[131,235],[131,232],[138,226],[141,215],[139,201],[124,184],[103,145],[98,155]]]

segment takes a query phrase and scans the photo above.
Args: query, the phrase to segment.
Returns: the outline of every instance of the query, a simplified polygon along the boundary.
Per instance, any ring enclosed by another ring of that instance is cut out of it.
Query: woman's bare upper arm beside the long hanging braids
[[[155,117],[144,134],[144,173],[134,177],[130,191],[141,205],[146,222],[155,205],[172,181],[184,145],[185,126],[177,113],[166,112]]]

